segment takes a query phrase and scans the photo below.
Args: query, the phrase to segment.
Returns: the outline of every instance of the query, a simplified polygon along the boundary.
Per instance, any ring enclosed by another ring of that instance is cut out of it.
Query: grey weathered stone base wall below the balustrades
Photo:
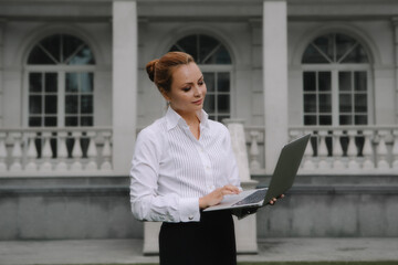
[[[0,178],[0,240],[143,239],[127,177]],[[398,236],[398,176],[298,176],[256,218],[258,239]]]

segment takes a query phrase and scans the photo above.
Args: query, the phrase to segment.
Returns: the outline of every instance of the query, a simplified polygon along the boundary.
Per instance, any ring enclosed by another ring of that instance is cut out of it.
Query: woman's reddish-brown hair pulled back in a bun
[[[155,83],[160,93],[168,93],[171,91],[174,70],[189,63],[195,63],[195,60],[188,53],[168,52],[160,59],[155,59],[147,63],[146,71],[149,80]]]

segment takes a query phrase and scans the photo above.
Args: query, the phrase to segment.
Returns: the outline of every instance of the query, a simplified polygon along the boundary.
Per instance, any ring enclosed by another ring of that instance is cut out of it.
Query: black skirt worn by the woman
[[[159,256],[160,265],[235,265],[231,213],[202,212],[200,222],[163,223]]]

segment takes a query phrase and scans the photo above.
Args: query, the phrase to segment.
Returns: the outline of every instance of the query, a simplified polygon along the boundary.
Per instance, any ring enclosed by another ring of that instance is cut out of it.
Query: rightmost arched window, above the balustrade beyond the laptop
[[[303,67],[304,125],[369,123],[369,59],[355,39],[331,33],[305,49]]]

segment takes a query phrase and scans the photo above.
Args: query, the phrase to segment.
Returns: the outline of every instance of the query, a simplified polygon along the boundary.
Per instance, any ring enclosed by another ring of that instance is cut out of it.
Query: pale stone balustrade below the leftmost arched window
[[[0,176],[106,174],[112,128],[0,129]]]

